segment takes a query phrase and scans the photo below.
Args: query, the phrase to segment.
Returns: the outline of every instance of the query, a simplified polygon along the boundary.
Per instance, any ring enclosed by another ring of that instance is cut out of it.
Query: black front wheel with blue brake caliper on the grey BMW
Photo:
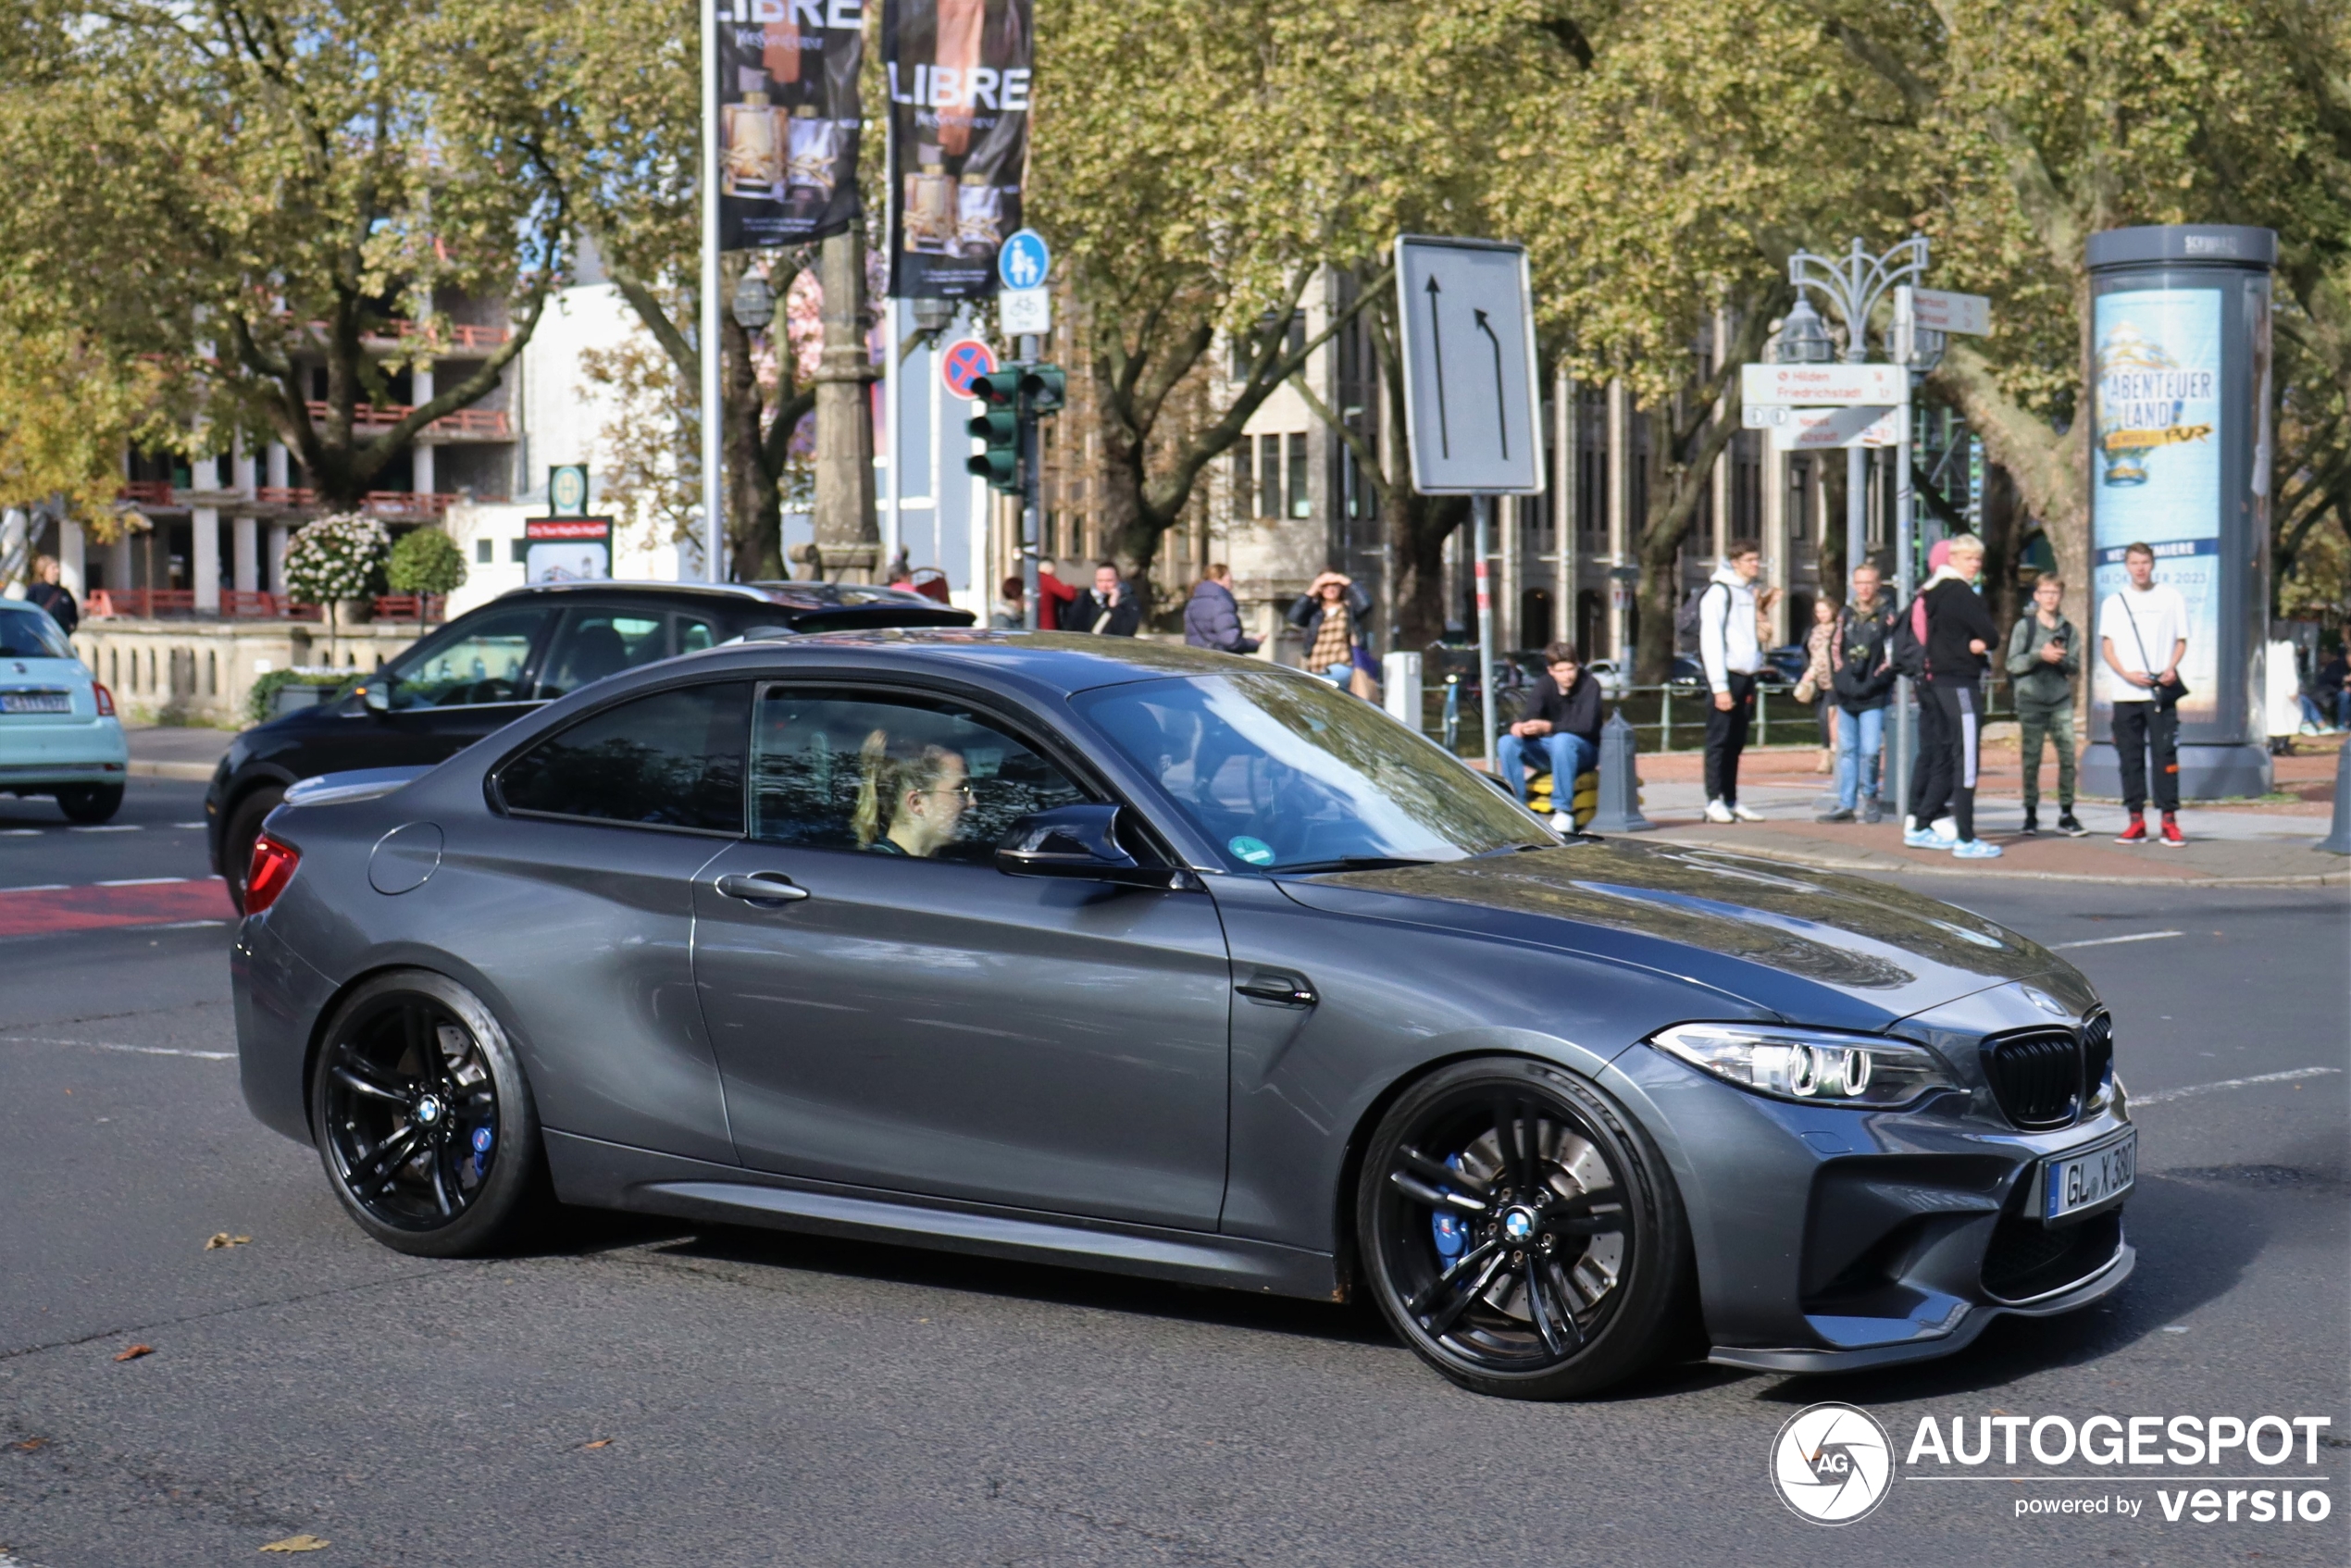
[[[1589,1394],[1683,1319],[1688,1225],[1665,1159],[1545,1063],[1455,1063],[1408,1088],[1366,1150],[1357,1237],[1387,1321],[1479,1394]]]

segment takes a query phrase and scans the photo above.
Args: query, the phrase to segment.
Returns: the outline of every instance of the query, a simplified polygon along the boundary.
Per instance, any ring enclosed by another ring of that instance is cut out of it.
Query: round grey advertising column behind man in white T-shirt
[[[2262,642],[2269,614],[2266,228],[2186,223],[2090,235],[2090,750],[2083,795],[2121,795],[2097,607],[2123,552],[2189,607],[2179,661],[2179,797],[2269,792]],[[2128,649],[2125,649],[2128,651]],[[2137,661],[2130,661],[2137,663]]]

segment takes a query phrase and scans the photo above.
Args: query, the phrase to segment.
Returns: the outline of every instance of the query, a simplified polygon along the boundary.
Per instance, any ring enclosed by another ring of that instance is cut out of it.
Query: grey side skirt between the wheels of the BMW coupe
[[[1305,1300],[1342,1298],[1328,1253],[1274,1241],[809,1182],[576,1133],[548,1131],[545,1147],[555,1197],[583,1208],[764,1225]]]

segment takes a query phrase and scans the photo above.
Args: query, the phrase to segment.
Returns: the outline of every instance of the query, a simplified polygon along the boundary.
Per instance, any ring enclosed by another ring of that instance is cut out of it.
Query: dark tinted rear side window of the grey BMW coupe
[[[517,816],[743,832],[750,682],[677,686],[569,724],[498,769]]]

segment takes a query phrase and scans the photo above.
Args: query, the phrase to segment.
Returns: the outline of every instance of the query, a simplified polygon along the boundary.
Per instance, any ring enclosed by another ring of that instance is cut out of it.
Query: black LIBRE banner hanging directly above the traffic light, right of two
[[[889,292],[983,299],[1020,228],[1027,165],[1030,0],[889,0]]]

